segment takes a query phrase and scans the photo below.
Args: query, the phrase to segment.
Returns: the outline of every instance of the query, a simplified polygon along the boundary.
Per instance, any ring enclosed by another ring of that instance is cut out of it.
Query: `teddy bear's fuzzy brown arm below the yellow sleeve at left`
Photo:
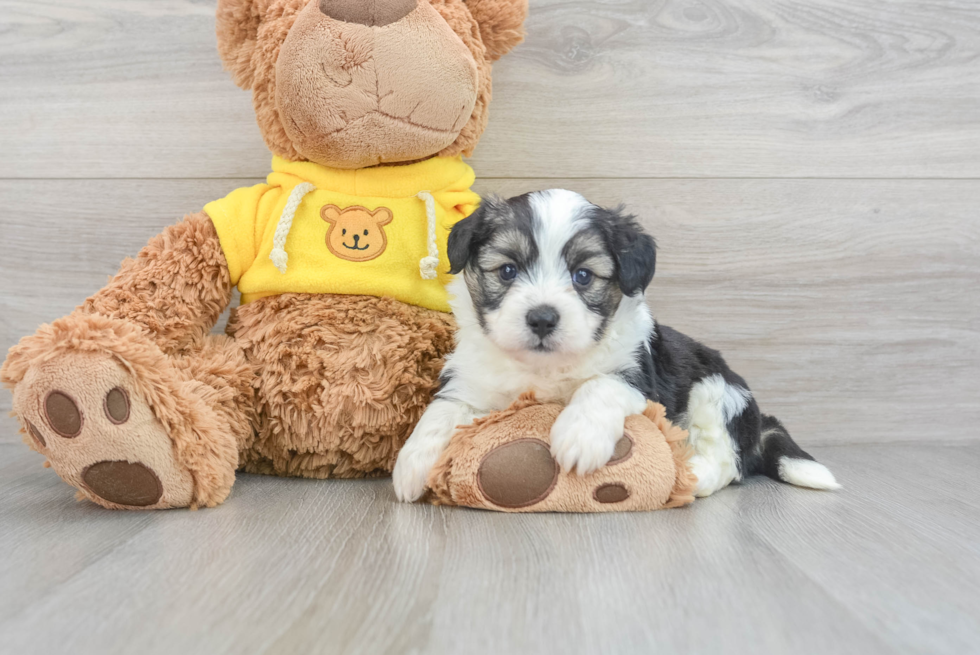
[[[173,353],[210,332],[231,294],[218,234],[200,212],[150,239],[76,311],[136,323],[163,352]]]

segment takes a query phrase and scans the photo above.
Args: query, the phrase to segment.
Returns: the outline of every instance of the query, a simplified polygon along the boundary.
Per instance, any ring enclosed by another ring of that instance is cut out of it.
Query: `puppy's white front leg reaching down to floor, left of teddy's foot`
[[[429,471],[439,461],[456,426],[471,422],[476,415],[464,403],[440,398],[432,401],[395,461],[391,478],[398,500],[411,503],[422,496]]]

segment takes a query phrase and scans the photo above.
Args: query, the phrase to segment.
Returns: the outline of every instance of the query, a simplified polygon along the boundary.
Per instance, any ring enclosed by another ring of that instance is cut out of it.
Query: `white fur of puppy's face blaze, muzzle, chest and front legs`
[[[552,454],[565,470],[581,475],[609,461],[626,417],[646,405],[643,394],[615,375],[635,365],[637,348],[653,333],[643,294],[624,297],[602,339],[594,341],[601,319],[575,292],[562,256],[564,244],[584,225],[580,216],[587,201],[570,191],[549,191],[534,194],[531,202],[541,219],[538,262],[528,280],[515,283],[500,308],[486,315],[486,332],[463,276],[449,284],[458,330],[456,349],[446,359],[453,375],[440,393],[453,400],[434,401],[399,453],[393,482],[400,500],[422,495],[457,425],[506,409],[526,391],[566,405],[552,428]],[[525,320],[543,302],[561,314],[547,352],[533,350],[539,341]]]

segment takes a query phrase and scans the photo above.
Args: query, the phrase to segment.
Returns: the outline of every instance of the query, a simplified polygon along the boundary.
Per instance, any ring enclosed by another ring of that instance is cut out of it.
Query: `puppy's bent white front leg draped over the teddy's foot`
[[[622,378],[592,378],[575,391],[551,427],[551,454],[565,471],[591,473],[612,457],[626,417],[645,407],[643,394]]]

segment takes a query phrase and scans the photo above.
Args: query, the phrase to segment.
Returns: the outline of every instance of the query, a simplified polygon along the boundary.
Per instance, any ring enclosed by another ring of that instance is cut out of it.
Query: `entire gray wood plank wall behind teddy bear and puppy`
[[[478,190],[625,202],[658,318],[803,444],[977,437],[980,2],[533,0],[527,29]],[[2,351],[269,165],[213,0],[0,0],[0,153]]]

